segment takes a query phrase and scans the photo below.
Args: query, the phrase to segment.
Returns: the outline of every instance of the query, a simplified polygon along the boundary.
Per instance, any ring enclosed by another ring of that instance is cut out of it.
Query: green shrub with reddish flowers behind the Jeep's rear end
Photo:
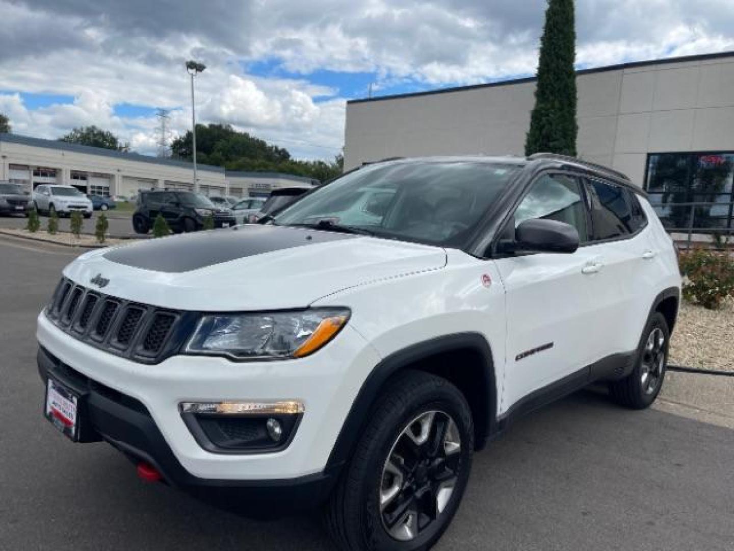
[[[688,302],[715,310],[727,297],[734,297],[734,259],[729,253],[695,248],[682,251],[678,262]]]

